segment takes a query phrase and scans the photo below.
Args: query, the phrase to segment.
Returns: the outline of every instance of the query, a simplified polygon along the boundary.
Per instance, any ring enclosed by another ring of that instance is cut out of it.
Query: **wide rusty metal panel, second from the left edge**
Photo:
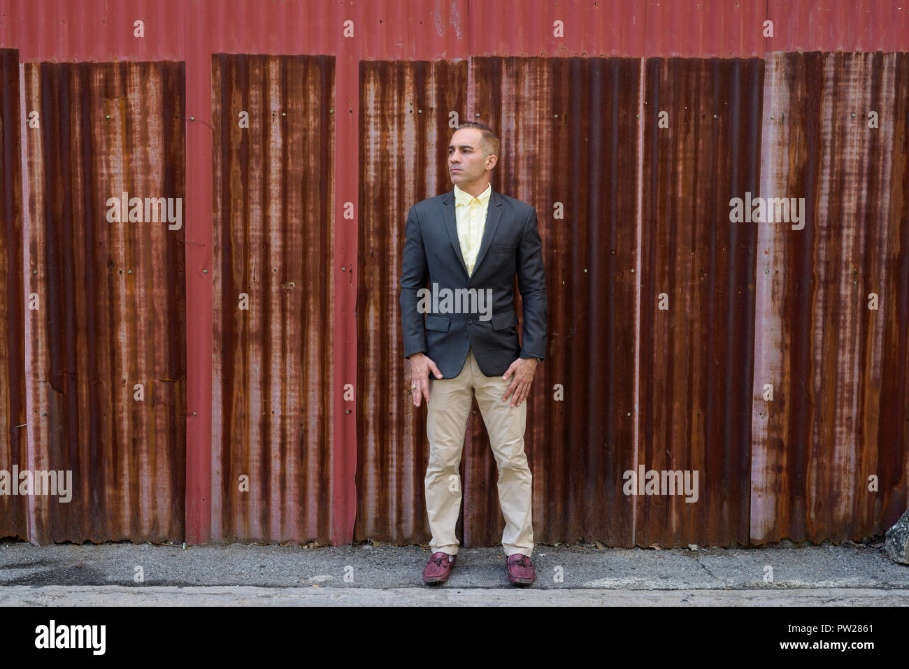
[[[108,198],[174,198],[176,215],[184,66],[45,63],[23,78],[39,124],[25,129],[30,465],[73,477],[70,503],[35,496],[32,541],[182,540],[184,232],[116,222]]]

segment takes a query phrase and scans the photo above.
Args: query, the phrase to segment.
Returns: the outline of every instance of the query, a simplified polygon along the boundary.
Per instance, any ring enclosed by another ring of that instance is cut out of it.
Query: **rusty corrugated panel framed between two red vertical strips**
[[[328,543],[334,66],[212,59],[215,541]]]

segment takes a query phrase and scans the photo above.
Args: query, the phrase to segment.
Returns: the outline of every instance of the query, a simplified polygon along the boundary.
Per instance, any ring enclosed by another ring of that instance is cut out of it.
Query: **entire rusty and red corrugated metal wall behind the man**
[[[427,541],[397,273],[453,111],[540,213],[537,542],[861,538],[909,502],[909,6],[0,0],[0,47],[0,468],[79,477],[0,499],[0,533]],[[184,230],[106,224],[121,184],[185,193]],[[804,196],[805,229],[730,224],[745,192]],[[474,411],[459,532],[494,544]],[[642,465],[698,469],[698,502],[623,494]]]

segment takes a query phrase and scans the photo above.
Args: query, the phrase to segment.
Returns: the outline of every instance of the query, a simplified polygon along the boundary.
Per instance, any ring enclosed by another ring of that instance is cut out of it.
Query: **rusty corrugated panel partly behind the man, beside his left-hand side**
[[[360,63],[357,514],[354,540],[428,543],[425,403],[407,394],[398,295],[410,206],[450,190],[449,115],[465,117],[466,61]],[[460,522],[459,522],[460,524]],[[460,527],[458,531],[460,533]]]

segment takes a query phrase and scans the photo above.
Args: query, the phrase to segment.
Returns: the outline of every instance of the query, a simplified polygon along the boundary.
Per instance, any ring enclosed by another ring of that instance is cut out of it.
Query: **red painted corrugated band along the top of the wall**
[[[135,36],[135,21],[145,36]],[[764,36],[764,22],[773,36]],[[195,21],[195,25],[187,23]],[[349,22],[349,23],[348,23]],[[561,22],[561,23],[559,23]],[[5,0],[0,46],[23,62],[332,54],[367,60],[471,55],[752,57],[909,51],[902,0]]]

